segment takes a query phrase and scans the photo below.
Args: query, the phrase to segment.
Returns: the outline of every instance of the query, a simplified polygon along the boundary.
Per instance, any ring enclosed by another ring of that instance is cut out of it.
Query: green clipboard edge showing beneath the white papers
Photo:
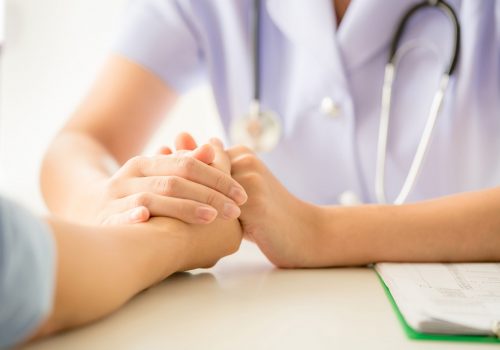
[[[456,342],[475,342],[475,343],[500,343],[500,338],[495,337],[493,335],[487,336],[487,335],[449,335],[449,334],[430,334],[430,333],[421,333],[417,332],[413,328],[410,327],[408,323],[406,323],[406,320],[404,319],[403,315],[401,314],[401,311],[399,311],[398,305],[396,304],[396,301],[394,301],[394,298],[392,297],[391,292],[389,291],[389,288],[385,284],[384,280],[382,277],[379,275],[379,273],[374,269],[375,273],[377,274],[378,279],[380,280],[380,283],[382,284],[382,287],[384,288],[385,294],[387,295],[387,298],[389,299],[392,309],[396,313],[396,316],[398,317],[399,322],[401,323],[401,326],[403,327],[403,330],[406,333],[406,336],[410,339],[416,339],[416,340],[437,340],[437,341],[456,341]]]

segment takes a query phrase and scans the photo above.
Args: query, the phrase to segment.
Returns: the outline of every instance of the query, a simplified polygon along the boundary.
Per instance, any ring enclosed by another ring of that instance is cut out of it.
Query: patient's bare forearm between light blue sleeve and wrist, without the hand
[[[184,242],[168,225],[85,227],[51,220],[57,246],[54,308],[39,335],[98,319],[180,268]]]

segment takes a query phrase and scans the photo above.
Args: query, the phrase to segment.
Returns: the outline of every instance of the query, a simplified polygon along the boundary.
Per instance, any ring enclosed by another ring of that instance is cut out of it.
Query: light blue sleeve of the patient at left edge
[[[0,348],[29,337],[52,309],[55,247],[47,225],[0,198]]]

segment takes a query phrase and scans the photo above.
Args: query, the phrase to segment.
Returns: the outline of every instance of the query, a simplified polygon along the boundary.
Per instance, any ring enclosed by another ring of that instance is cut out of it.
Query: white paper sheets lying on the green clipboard
[[[375,268],[415,330],[500,335],[500,264],[381,263]]]

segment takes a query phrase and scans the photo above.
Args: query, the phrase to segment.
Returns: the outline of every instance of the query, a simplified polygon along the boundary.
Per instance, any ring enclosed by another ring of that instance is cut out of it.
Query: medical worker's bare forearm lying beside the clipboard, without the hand
[[[326,266],[500,261],[500,188],[402,206],[331,207],[322,222],[318,258]]]

